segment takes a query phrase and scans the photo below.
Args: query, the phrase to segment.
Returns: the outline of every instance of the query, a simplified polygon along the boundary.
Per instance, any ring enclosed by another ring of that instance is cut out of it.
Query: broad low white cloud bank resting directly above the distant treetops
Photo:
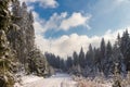
[[[126,28],[125,28],[126,29]],[[80,48],[88,50],[88,46],[91,44],[93,47],[99,47],[101,39],[104,37],[106,42],[110,40],[112,44],[115,42],[118,33],[121,35],[125,29],[118,29],[116,32],[107,30],[103,36],[88,37],[87,35],[72,34],[69,36],[63,35],[57,39],[46,39],[40,35],[36,36],[36,44],[41,49],[42,52],[52,52],[63,58],[72,55],[74,51],[79,52]],[[130,33],[130,27],[128,28]]]

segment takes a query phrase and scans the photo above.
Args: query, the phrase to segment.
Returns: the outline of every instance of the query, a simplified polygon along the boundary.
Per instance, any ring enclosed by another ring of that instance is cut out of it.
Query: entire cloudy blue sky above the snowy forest
[[[61,57],[87,52],[104,37],[112,42],[118,33],[130,32],[130,0],[21,0],[35,17],[36,45],[42,52]]]

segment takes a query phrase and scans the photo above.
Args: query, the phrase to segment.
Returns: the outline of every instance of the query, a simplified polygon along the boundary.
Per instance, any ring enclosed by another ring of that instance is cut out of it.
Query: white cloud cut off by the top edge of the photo
[[[56,8],[58,3],[56,0],[21,0],[22,2],[27,2],[27,3],[34,3],[34,2],[39,2],[41,7],[43,8]]]

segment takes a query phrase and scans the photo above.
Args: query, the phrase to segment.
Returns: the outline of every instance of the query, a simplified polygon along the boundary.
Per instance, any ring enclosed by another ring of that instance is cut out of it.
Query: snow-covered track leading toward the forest
[[[34,75],[23,76],[22,85],[16,85],[14,87],[77,87],[77,83],[68,74],[60,73],[49,78]]]

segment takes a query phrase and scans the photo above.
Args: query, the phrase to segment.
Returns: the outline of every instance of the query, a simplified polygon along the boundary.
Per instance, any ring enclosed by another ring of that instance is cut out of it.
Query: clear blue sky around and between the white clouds
[[[35,11],[39,13],[41,18],[49,20],[53,13],[61,14],[67,12],[68,16],[74,12],[79,12],[82,15],[91,15],[89,26],[77,26],[72,29],[64,30],[47,30],[46,37],[49,37],[50,32],[53,32],[53,37],[60,37],[64,34],[70,35],[74,32],[78,35],[103,35],[107,29],[116,30],[117,28],[126,27],[130,24],[130,2],[127,0],[57,0],[55,8],[42,8],[39,2],[34,2]],[[51,36],[50,36],[51,37]]]

